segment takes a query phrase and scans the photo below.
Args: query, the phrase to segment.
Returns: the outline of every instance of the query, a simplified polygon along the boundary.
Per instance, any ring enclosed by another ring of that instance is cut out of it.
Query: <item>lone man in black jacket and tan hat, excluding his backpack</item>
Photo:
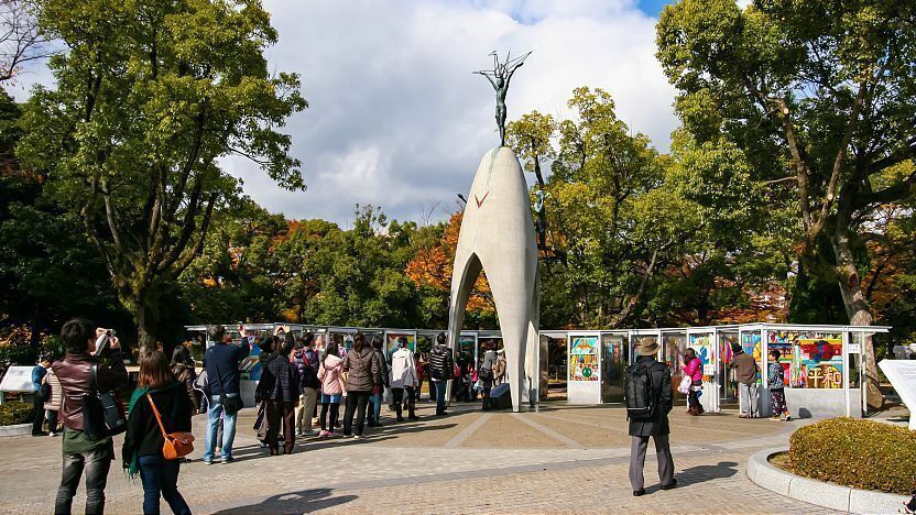
[[[644,419],[630,419],[630,484],[633,495],[645,494],[643,467],[645,451],[648,448],[648,437],[655,440],[655,454],[658,459],[658,480],[662,490],[670,490],[677,485],[674,479],[674,459],[668,442],[668,413],[672,410],[672,371],[665,363],[655,361],[658,353],[658,342],[652,338],[644,338],[640,342],[637,361],[634,368],[645,368],[648,371],[652,413]]]

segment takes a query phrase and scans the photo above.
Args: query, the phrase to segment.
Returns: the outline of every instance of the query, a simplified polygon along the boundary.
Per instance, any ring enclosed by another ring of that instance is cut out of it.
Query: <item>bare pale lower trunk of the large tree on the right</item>
[[[851,326],[871,326],[874,317],[869,308],[865,292],[862,289],[862,282],[859,278],[849,243],[849,232],[843,224],[838,226],[832,240],[833,253],[837,258],[840,295],[849,316],[849,324]],[[865,338],[863,343],[862,368],[865,372],[863,385],[866,394],[865,402],[870,409],[881,409],[884,404],[884,396],[881,394],[877,381],[877,363],[875,361],[873,338]]]

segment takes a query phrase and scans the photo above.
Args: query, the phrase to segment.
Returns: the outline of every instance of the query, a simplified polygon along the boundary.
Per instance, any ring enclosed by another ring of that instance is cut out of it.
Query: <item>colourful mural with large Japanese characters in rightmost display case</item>
[[[779,351],[786,386],[842,388],[842,335],[816,331],[773,331],[770,349]]]

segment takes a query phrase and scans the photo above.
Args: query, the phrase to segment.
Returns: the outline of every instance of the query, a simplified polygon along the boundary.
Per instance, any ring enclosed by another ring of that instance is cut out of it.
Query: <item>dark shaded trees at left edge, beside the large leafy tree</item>
[[[83,235],[81,220],[44,195],[45,178],[23,169],[15,158],[20,114],[0,94],[2,326],[29,326],[34,336],[25,344],[32,346],[75,315],[127,329],[128,317],[118,307],[101,258]]]

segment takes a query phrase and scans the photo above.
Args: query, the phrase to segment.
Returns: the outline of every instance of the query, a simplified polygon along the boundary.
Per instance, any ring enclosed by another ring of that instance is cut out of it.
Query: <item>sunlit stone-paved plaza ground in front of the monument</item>
[[[379,429],[360,441],[305,439],[291,456],[269,457],[257,445],[253,413],[242,413],[231,464],[182,467],[178,487],[195,513],[816,513],[821,509],[751,483],[746,459],[785,443],[800,423],[743,420],[734,413],[672,414],[680,485],[661,491],[654,456],[647,494],[633,497],[626,478],[629,438],[620,406],[552,405],[541,413],[480,413],[476,405],[446,417]],[[383,409],[386,412],[386,409]],[[200,427],[203,417],[195,417]],[[120,439],[117,442],[120,443]],[[59,481],[58,438],[0,439],[0,513],[48,513]],[[652,447],[652,446],[650,446]],[[119,453],[120,456],[120,453]],[[138,513],[142,487],[112,464],[108,513]],[[80,489],[74,506],[85,502]],[[167,506],[163,502],[163,511]]]

